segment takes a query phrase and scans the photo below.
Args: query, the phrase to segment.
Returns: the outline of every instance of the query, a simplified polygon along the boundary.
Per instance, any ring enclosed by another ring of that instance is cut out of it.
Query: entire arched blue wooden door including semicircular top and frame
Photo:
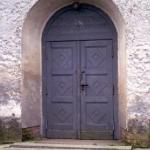
[[[49,138],[114,139],[117,33],[100,9],[74,3],[43,32],[44,132]]]

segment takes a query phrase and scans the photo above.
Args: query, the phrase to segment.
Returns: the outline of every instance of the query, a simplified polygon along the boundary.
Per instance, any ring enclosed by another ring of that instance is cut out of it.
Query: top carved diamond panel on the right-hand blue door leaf
[[[88,47],[87,49],[87,68],[97,68],[105,63],[105,47]]]

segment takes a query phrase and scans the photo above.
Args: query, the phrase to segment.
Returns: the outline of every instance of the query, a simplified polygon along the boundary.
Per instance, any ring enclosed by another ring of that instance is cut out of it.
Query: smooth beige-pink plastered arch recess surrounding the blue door
[[[42,33],[49,18],[72,0],[39,0],[28,12],[22,32],[22,128],[37,128],[42,134]],[[126,128],[126,52],[124,20],[112,1],[79,0],[102,9],[118,32],[118,137]]]

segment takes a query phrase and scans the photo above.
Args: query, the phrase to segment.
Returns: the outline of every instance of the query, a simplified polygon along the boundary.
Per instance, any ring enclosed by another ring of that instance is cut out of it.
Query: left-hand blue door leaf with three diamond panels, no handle
[[[76,42],[47,42],[47,137],[77,138]]]

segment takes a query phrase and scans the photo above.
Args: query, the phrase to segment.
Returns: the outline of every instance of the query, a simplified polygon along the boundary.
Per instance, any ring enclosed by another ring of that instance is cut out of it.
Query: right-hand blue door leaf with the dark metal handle
[[[81,42],[81,138],[113,138],[112,41]]]

